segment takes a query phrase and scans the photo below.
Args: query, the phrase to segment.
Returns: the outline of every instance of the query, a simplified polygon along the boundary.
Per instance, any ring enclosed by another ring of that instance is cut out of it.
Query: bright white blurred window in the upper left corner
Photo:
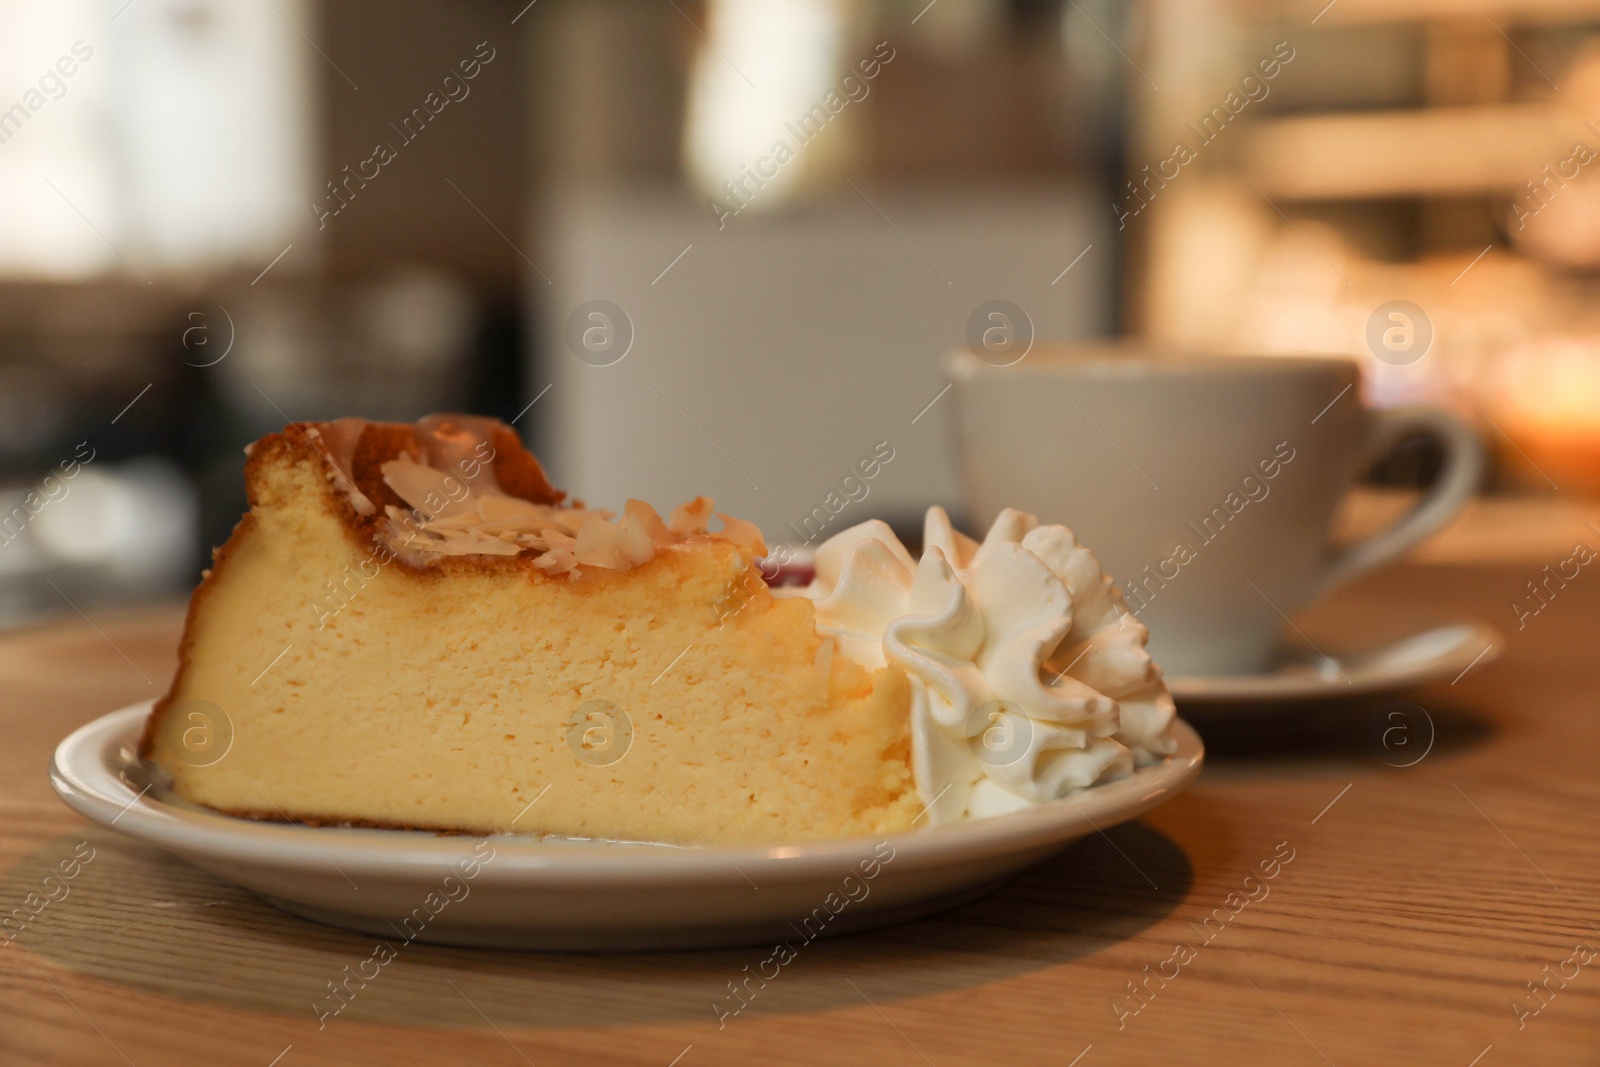
[[[312,5],[123,3],[0,5],[0,274],[150,280],[306,229]]]

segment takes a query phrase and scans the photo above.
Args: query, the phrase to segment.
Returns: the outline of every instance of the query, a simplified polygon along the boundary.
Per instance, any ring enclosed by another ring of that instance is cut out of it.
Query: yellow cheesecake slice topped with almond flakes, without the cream
[[[774,598],[710,502],[613,522],[515,434],[293,424],[189,608],[141,755],[229,814],[666,843],[907,829],[910,691]]]

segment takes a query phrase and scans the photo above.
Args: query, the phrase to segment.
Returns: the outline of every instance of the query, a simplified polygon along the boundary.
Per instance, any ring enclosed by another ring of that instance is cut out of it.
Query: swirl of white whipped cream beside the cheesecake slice
[[[912,681],[912,766],[933,824],[1016,811],[1176,749],[1147,630],[1066,526],[1005,510],[982,544],[928,509],[922,560],[872,520],[816,550],[818,629]]]

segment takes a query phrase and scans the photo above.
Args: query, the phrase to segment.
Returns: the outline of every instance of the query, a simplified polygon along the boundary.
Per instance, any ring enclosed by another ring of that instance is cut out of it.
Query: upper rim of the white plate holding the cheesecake
[[[254,867],[328,862],[331,853],[352,873],[394,877],[414,872],[432,877],[454,864],[474,841],[494,845],[494,862],[483,869],[493,881],[573,886],[624,886],[650,881],[746,881],[760,869],[770,881],[802,881],[858,862],[875,843],[894,846],[896,867],[941,865],[952,854],[1003,856],[1048,848],[1134,819],[1187,789],[1205,761],[1195,729],[1173,720],[1178,747],[1163,763],[1131,777],[1035,805],[1016,813],[922,830],[829,838],[795,845],[661,846],[632,843],[549,841],[531,835],[440,835],[419,830],[307,827],[258,822],[205,809],[189,809],[141,792],[123,779],[120,753],[136,736],[152,701],[130,704],[74,729],[50,761],[50,781],[61,800],[90,822],[179,856],[226,859]]]

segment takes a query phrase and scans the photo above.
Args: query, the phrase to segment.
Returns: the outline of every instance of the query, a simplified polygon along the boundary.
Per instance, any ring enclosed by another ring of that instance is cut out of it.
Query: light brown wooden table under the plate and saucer
[[[757,950],[413,945],[318,1032],[312,1000],[368,939],[91,829],[45,781],[67,731],[160,689],[178,616],[14,633],[0,912],[82,841],[94,859],[0,947],[0,1062],[1595,1064],[1600,576],[1515,632],[1536,573],[1350,590],[1330,611],[1467,611],[1504,654],[1403,701],[1195,717],[1208,763],[1176,801],[955,912],[818,942],[723,1029],[712,1001]]]

